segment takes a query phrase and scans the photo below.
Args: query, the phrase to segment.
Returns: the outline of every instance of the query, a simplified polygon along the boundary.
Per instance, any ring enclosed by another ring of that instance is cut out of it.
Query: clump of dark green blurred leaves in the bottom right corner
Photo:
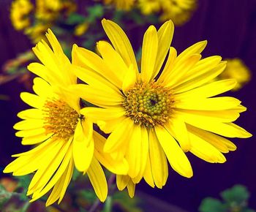
[[[248,208],[249,192],[245,186],[236,185],[221,193],[222,201],[207,197],[201,202],[200,212],[255,212]]]

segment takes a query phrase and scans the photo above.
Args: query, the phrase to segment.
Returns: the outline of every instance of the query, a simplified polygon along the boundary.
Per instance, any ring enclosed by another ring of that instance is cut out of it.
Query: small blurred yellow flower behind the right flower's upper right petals
[[[235,79],[237,83],[233,88],[233,91],[238,91],[246,83],[248,83],[249,80],[251,80],[251,72],[240,58],[227,59],[226,61],[227,67],[225,68],[224,72],[219,75],[219,79]]]

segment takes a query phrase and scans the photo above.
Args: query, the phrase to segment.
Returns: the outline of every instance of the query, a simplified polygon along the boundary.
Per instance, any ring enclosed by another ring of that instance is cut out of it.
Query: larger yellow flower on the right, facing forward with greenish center
[[[222,153],[235,150],[236,145],[222,136],[251,136],[232,123],[246,110],[241,102],[228,96],[213,97],[232,89],[236,82],[211,83],[226,63],[220,56],[201,59],[206,41],[177,56],[170,47],[172,21],[158,31],[150,26],[143,37],[138,67],[124,31],[110,20],[102,20],[102,25],[113,47],[98,42],[101,57],[74,48],[72,59],[79,66],[75,74],[87,83],[76,85],[75,91],[98,106],[83,108],[80,113],[110,133],[104,151],[129,163],[129,176],[117,176],[118,189],[127,186],[133,196],[141,178],[162,188],[167,181],[167,161],[177,173],[190,178],[192,167],[184,152],[223,163]]]

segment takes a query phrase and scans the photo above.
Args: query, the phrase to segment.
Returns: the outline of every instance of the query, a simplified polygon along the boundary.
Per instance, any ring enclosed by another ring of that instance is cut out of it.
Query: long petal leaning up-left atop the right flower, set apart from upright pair
[[[132,45],[129,42],[127,35],[121,29],[121,27],[113,21],[106,19],[102,20],[102,26],[105,30],[105,33],[108,35],[108,38],[112,42],[113,47],[124,59],[124,62],[125,64],[127,64],[127,67],[129,67],[130,64],[132,64],[135,71],[138,72],[137,62],[135,59],[135,54],[132,50]]]

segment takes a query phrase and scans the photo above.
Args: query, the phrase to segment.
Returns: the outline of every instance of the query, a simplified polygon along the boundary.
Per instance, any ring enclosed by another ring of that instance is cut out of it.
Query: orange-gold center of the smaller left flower
[[[47,133],[69,140],[78,124],[79,114],[61,99],[49,99],[44,108],[45,129]]]

